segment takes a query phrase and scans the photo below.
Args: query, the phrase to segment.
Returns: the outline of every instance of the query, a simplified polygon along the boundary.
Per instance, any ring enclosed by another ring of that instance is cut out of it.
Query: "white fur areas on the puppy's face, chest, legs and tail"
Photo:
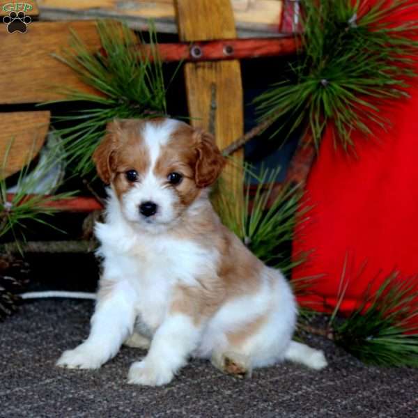
[[[148,173],[125,194],[122,204],[109,190],[106,222],[95,227],[102,244],[98,254],[104,258],[100,286],[107,291],[98,294],[90,335],[74,350],[65,351],[57,364],[96,369],[116,355],[123,341],[146,347],[149,338],[148,355],[130,368],[130,383],[164,385],[189,355],[212,357],[212,362],[219,364],[230,350],[249,371],[283,359],[323,368],[326,361],[322,352],[291,341],[297,309],[290,286],[277,270],[263,268],[262,284],[255,294],[229,299],[199,325],[184,314],[171,313],[174,286],[200,286],[196,278],[215,277],[222,254],[201,247],[191,238],[173,238],[167,233],[169,224],[176,222],[171,208],[175,198],[162,186],[162,180],[155,178],[153,165],[176,123],[153,126],[146,125],[141,132],[150,154]],[[203,191],[187,213],[199,213],[207,199]],[[159,217],[149,223],[138,212],[141,201],[147,200],[160,206]],[[229,347],[229,332],[261,316],[266,320],[238,352]],[[141,336],[132,336],[134,328]]]

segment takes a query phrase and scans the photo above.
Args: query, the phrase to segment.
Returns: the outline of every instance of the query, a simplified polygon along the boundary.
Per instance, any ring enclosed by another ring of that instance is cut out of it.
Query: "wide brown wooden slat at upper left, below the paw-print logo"
[[[99,49],[95,22],[32,22],[27,33],[0,31],[0,45],[7,45],[0,48],[0,104],[54,100],[62,97],[56,90],[63,86],[95,92],[52,56],[68,47],[70,29]]]

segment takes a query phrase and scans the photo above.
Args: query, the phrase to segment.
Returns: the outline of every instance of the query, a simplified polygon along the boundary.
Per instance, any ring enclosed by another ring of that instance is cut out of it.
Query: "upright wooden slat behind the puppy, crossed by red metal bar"
[[[228,0],[177,0],[177,15],[180,40],[235,38],[233,13]],[[215,131],[221,149],[242,135],[243,95],[239,61],[186,63],[185,83],[192,125]],[[242,161],[242,150],[234,157]],[[230,162],[224,170],[224,178],[235,198],[240,199],[242,169]]]

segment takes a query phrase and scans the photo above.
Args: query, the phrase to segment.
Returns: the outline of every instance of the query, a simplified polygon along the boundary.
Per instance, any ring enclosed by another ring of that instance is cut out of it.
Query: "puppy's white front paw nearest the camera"
[[[171,382],[173,376],[171,370],[143,360],[130,366],[127,382],[130,385],[162,386]]]

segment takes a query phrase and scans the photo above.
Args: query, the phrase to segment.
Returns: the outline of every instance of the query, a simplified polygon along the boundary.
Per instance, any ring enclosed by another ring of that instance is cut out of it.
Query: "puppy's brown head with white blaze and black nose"
[[[125,218],[150,231],[176,222],[224,167],[210,134],[168,118],[109,123],[93,160]]]

